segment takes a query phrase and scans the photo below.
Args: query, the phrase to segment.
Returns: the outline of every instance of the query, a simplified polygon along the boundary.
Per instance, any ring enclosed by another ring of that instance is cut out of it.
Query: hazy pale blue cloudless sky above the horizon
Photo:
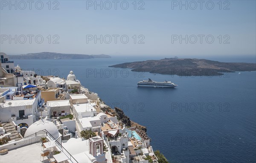
[[[255,0],[0,2],[0,51],[9,55],[256,55]]]

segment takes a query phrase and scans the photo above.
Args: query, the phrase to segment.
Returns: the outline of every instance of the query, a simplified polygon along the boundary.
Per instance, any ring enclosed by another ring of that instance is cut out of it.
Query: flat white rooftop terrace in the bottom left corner
[[[41,163],[41,153],[41,144],[34,143],[8,151],[5,155],[0,155],[0,163]]]

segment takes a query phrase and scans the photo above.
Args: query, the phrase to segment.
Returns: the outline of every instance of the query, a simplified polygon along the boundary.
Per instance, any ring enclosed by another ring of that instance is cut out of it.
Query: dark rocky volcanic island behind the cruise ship
[[[256,63],[218,62],[207,59],[165,58],[126,62],[109,67],[132,68],[132,71],[178,76],[216,76],[225,72],[255,71]]]

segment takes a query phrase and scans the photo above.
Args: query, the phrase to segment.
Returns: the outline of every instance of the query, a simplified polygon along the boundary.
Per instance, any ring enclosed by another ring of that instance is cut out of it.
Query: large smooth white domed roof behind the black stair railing
[[[55,126],[55,124],[47,120],[39,120],[31,126],[29,126],[29,128],[25,132],[24,137],[30,136],[44,129],[46,129],[55,139],[59,137],[57,126]]]

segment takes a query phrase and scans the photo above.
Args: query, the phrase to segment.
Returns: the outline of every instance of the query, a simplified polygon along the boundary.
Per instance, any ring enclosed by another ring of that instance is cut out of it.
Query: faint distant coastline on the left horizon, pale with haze
[[[92,59],[92,58],[111,58],[109,55],[87,55],[87,54],[66,54],[66,53],[28,53],[20,55],[9,55],[10,59]]]

